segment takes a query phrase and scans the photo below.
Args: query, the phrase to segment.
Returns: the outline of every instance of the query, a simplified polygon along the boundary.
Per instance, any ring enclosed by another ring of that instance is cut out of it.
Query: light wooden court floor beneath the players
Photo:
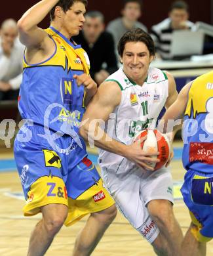
[[[0,160],[13,158],[12,150],[0,149]],[[1,166],[0,166],[1,167]],[[187,208],[180,195],[180,186],[184,177],[184,168],[180,160],[171,163],[172,176],[174,178],[175,203],[174,213],[185,234],[190,219]],[[35,217],[23,217],[22,188],[17,171],[0,171],[0,255],[24,256],[28,248],[29,235],[33,226],[39,221],[41,215]],[[60,230],[46,255],[68,256],[71,255],[75,236],[85,224],[87,217],[79,223]],[[39,245],[38,245],[39,246]],[[128,224],[126,219],[117,214],[113,224],[109,226],[104,237],[96,247],[93,256],[153,256],[155,253],[151,245]],[[213,242],[207,245],[207,256],[213,255]],[[175,255],[174,255],[175,256]],[[187,256],[187,255],[185,255]]]

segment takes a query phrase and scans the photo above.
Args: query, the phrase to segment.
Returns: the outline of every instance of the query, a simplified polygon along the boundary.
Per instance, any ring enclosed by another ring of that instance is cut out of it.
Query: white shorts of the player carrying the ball
[[[159,228],[149,215],[147,203],[165,199],[174,202],[172,175],[168,168],[145,171],[123,158],[120,163],[102,166],[104,184],[128,221],[152,243]]]

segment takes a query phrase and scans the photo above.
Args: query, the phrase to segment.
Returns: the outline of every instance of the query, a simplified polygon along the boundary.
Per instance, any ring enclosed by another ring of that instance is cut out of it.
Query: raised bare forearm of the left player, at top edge
[[[18,20],[19,30],[28,31],[37,26],[58,1],[59,0],[43,0],[33,5],[33,7],[26,11],[22,18]]]

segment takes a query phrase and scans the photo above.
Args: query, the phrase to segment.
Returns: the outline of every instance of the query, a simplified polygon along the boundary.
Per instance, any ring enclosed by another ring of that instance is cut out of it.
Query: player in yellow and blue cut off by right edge
[[[183,115],[187,173],[181,191],[192,222],[182,255],[205,255],[206,242],[213,238],[213,71],[185,85],[163,119]]]

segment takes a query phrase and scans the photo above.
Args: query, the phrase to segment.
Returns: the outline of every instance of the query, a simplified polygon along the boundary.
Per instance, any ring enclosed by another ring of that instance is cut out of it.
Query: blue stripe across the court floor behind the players
[[[96,165],[98,163],[98,155],[88,154],[88,158]],[[173,160],[182,159],[182,148],[174,148]],[[0,173],[6,171],[16,171],[16,163],[14,159],[0,160]]]

